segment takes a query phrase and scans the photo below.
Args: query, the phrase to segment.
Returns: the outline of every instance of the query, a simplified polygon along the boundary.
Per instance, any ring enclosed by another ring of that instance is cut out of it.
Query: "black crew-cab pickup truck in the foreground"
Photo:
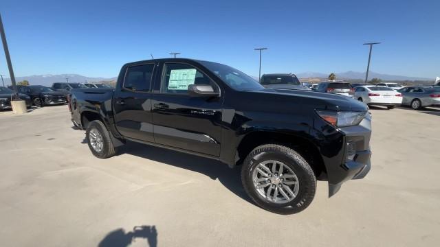
[[[72,121],[91,152],[109,158],[126,141],[241,165],[260,207],[297,213],[370,170],[371,115],[362,102],[314,91],[265,89],[215,62],[170,58],[125,64],[115,89],[74,89]],[[207,163],[206,165],[210,165]]]

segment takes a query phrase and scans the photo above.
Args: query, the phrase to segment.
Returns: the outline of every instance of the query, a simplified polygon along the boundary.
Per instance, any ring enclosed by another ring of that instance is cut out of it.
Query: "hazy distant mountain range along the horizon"
[[[319,72],[305,72],[297,73],[298,78],[327,78],[329,74]],[[258,80],[258,77],[252,76]],[[91,78],[78,74],[61,74],[61,75],[30,75],[20,76],[15,78],[17,82],[28,80],[31,85],[43,85],[51,86],[54,82],[66,82],[69,78],[69,82],[101,82],[101,81],[115,81],[117,77],[113,78]],[[404,75],[387,75],[381,73],[375,73],[370,71],[369,78],[380,78],[382,80],[433,80],[433,78],[417,78]],[[336,79],[365,79],[365,72],[347,71],[342,73],[336,73]],[[10,85],[10,78],[4,78],[5,85]]]

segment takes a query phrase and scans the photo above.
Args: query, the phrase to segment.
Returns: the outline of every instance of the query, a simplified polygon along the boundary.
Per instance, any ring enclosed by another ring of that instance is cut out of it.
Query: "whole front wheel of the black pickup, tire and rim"
[[[283,145],[261,145],[246,157],[241,181],[254,202],[274,213],[292,214],[314,199],[316,176],[305,159]]]

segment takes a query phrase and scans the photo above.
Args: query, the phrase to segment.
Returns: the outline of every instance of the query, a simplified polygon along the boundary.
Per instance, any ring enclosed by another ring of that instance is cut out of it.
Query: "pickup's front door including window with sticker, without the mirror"
[[[220,155],[221,97],[190,97],[188,85],[211,84],[208,76],[190,64],[163,65],[160,89],[153,96],[155,142],[213,156]]]

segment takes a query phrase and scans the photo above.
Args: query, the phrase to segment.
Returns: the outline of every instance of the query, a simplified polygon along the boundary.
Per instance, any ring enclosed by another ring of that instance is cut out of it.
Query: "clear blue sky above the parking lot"
[[[16,76],[113,77],[135,60],[221,62],[250,75],[371,70],[440,76],[440,1],[10,1],[1,15]],[[3,51],[0,73],[8,75]],[[8,76],[7,76],[8,77]]]

